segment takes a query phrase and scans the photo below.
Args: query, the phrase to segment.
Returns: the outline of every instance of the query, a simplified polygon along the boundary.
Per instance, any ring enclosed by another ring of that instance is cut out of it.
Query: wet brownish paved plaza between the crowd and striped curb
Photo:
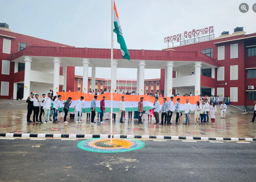
[[[230,113],[230,110],[234,114]],[[26,122],[26,110],[21,109],[1,109],[0,113],[0,133],[46,133],[46,134],[109,134],[110,120],[104,120],[104,124],[91,124],[86,120],[86,114],[82,115],[82,123],[75,123],[74,119],[67,117],[68,124],[63,123],[63,118],[59,123],[30,123]],[[134,114],[134,113],[133,113]],[[161,115],[161,114],[160,114]],[[69,116],[69,114],[68,114]],[[133,115],[132,115],[133,117]],[[242,111],[229,106],[225,119],[220,119],[220,110],[216,114],[215,125],[195,125],[195,118],[191,116],[190,125],[184,125],[185,116],[181,118],[180,125],[175,125],[174,114],[172,116],[173,125],[154,125],[155,118],[148,120],[145,117],[143,125],[138,125],[138,121],[128,120],[128,112],[124,124],[119,123],[120,113],[116,115],[113,123],[113,134],[122,135],[171,135],[171,136],[192,136],[192,137],[241,137],[256,138],[256,124],[251,123],[252,113],[243,114]],[[31,116],[32,119],[32,116]],[[210,120],[210,119],[209,119]],[[160,118],[161,121],[161,118]]]

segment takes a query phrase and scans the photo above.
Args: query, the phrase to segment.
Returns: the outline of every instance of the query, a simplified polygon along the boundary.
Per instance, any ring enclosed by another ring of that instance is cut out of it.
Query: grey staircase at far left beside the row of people
[[[0,99],[0,109],[27,109],[26,100]]]

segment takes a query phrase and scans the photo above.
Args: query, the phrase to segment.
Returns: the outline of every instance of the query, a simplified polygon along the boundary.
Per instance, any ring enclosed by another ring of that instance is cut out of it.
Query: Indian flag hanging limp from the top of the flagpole
[[[119,22],[115,1],[114,1],[114,27],[115,27],[114,32],[116,33],[116,36],[117,36],[117,42],[120,44],[122,57],[130,61],[130,55],[126,47],[126,43],[124,41],[124,35],[122,33],[121,25]]]

